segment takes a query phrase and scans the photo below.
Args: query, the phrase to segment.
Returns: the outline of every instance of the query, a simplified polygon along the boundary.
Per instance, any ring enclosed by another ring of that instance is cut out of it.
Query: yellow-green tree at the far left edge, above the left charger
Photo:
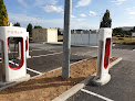
[[[9,26],[8,13],[3,0],[0,0],[0,26]]]

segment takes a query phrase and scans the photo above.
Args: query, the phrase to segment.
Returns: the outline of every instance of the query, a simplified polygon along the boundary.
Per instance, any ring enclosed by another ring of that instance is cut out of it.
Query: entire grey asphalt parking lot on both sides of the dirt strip
[[[113,46],[112,54],[123,60],[115,65],[110,74],[111,81],[103,87],[86,86],[68,101],[135,101],[135,45]],[[31,77],[62,67],[63,46],[61,44],[30,43],[30,56],[27,59],[27,72]],[[97,47],[72,46],[71,64],[97,56]],[[0,59],[0,71],[1,59]],[[1,74],[1,72],[0,72]],[[1,76],[0,76],[1,79]]]

